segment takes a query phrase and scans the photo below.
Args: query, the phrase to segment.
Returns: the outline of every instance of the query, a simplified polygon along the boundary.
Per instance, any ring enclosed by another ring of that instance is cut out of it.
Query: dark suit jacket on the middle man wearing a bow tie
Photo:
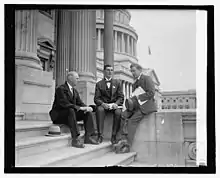
[[[106,81],[102,79],[96,83],[94,103],[100,106],[102,103],[116,103],[118,106],[122,106],[124,102],[124,94],[121,82],[117,79],[111,81],[111,95],[106,91]]]

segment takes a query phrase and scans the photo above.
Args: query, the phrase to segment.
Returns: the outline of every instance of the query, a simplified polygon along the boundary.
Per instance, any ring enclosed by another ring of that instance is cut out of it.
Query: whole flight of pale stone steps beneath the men
[[[83,122],[78,124],[83,138]],[[61,136],[45,136],[51,125],[49,121],[16,121],[16,167],[104,167],[128,165],[135,159],[136,153],[113,153],[110,141],[105,139],[99,145],[71,147],[68,127],[61,126]]]

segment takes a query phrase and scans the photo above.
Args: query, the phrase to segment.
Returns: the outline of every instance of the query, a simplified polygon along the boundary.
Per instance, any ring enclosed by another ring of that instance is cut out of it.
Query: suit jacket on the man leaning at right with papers
[[[134,91],[139,86],[142,87],[146,93],[139,95],[138,98],[140,99],[140,101],[148,100],[143,105],[140,105],[141,112],[143,114],[156,112],[157,106],[154,100],[155,86],[151,77],[142,74],[140,79],[132,85],[132,91]]]

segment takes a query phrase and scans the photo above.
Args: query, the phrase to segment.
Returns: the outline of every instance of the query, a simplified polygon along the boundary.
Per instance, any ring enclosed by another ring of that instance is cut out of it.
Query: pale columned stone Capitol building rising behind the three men
[[[122,80],[125,97],[131,94],[130,64],[138,63],[138,35],[127,10],[113,10],[114,77]],[[95,83],[103,78],[104,10],[19,10],[15,15],[16,113],[48,113],[55,87],[68,71],[79,73],[79,93],[93,104]],[[144,69],[156,86],[152,69]]]

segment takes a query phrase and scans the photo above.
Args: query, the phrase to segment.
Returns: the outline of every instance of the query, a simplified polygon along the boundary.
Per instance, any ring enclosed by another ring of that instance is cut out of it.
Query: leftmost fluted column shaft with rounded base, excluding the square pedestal
[[[15,11],[15,64],[42,70],[37,57],[37,10]]]

